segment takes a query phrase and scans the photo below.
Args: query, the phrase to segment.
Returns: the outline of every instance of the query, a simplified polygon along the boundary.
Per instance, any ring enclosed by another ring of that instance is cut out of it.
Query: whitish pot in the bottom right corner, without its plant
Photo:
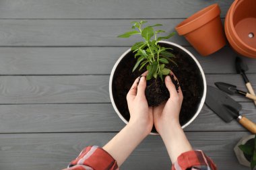
[[[254,137],[255,137],[255,134],[243,136],[243,138],[241,138],[241,140],[239,140],[239,142],[236,144],[236,146],[234,146],[234,153],[236,154],[236,158],[241,165],[250,167],[251,163],[249,161],[247,161],[243,151],[241,151],[241,149],[238,148],[238,146],[241,144],[245,144],[248,140],[250,140],[251,138],[254,138]]]

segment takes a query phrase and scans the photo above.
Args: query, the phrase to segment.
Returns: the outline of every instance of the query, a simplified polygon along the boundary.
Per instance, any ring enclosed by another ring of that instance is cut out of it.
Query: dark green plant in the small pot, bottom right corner
[[[256,167],[256,135],[253,142],[241,144],[238,146],[245,155],[251,158],[251,169]]]

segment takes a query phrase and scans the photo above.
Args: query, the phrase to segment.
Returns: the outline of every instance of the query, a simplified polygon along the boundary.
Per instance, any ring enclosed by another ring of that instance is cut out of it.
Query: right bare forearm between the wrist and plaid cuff
[[[174,163],[181,153],[191,151],[193,148],[178,122],[168,125],[168,128],[165,129],[161,137],[164,140],[170,160]]]

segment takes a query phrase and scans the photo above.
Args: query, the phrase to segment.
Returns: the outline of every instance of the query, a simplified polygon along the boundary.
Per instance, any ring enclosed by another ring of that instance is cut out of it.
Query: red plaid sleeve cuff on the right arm
[[[172,170],[203,170],[203,169],[211,169],[216,170],[217,167],[210,159],[207,157],[203,151],[188,151],[182,153],[177,161],[172,165]]]

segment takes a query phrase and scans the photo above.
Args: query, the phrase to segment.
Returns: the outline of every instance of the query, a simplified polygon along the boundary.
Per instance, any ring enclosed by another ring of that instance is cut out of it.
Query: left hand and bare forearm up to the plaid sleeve
[[[148,107],[145,96],[146,75],[147,72],[138,77],[127,94],[129,123],[103,147],[119,166],[152,130],[153,109]]]

